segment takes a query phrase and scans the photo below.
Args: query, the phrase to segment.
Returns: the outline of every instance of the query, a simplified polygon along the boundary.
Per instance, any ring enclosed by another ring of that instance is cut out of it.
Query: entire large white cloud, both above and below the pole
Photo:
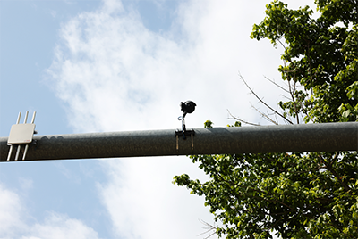
[[[268,1],[184,1],[172,29],[146,29],[137,12],[104,1],[64,24],[62,43],[49,74],[57,95],[68,103],[76,131],[180,128],[179,103],[197,110],[188,127],[228,121],[226,109],[257,121],[256,103],[238,78],[273,105],[279,89],[262,75],[279,78],[279,51],[249,38]],[[106,184],[98,185],[115,233],[124,238],[196,238],[198,219],[211,223],[203,199],[171,184],[175,175],[205,178],[185,157],[103,161]]]

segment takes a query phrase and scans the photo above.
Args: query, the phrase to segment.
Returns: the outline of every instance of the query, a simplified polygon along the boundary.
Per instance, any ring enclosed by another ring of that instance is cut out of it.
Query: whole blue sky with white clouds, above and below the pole
[[[0,0],[0,136],[21,111],[38,135],[269,124],[283,49],[250,38],[270,1]],[[312,4],[286,1],[290,7]],[[23,118],[22,118],[23,119]],[[21,120],[22,120],[21,119]],[[204,238],[205,181],[185,156],[0,163],[0,238]],[[216,238],[215,236],[211,238]]]

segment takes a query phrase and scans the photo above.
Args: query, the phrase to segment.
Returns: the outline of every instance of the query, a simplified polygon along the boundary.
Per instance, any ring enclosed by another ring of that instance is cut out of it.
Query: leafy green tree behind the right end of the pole
[[[280,102],[286,122],[358,119],[358,1],[316,0],[290,10],[274,1],[251,38],[282,45],[278,70],[291,100]],[[303,87],[302,90],[298,86]],[[236,123],[240,126],[240,123]],[[211,122],[206,122],[211,127]],[[334,139],[332,139],[334,140]],[[357,152],[195,155],[209,175],[200,182],[175,176],[176,185],[205,197],[226,238],[358,237]]]

